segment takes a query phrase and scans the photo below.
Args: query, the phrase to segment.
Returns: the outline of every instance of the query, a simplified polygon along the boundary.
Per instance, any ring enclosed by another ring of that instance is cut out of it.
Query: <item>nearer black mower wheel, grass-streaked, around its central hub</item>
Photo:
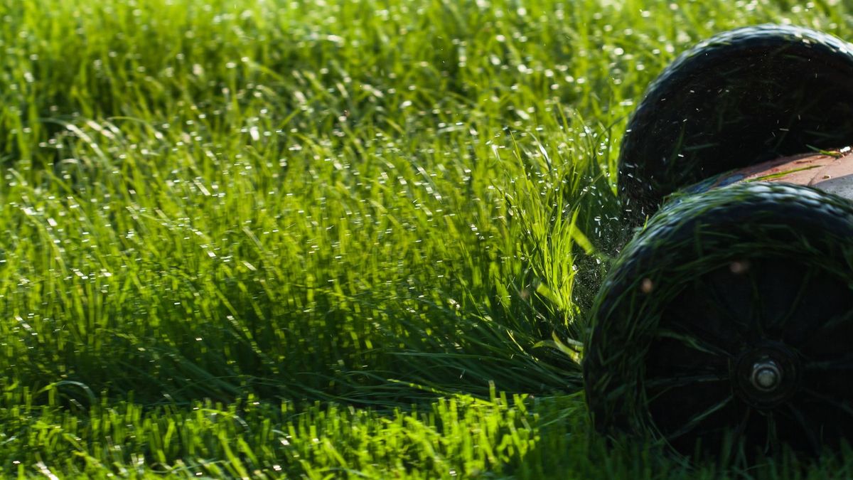
[[[851,238],[850,202],[798,185],[734,184],[663,208],[595,301],[583,359],[595,429],[688,456],[817,454],[853,438]],[[798,384],[756,406],[735,366],[766,342],[792,350]]]

